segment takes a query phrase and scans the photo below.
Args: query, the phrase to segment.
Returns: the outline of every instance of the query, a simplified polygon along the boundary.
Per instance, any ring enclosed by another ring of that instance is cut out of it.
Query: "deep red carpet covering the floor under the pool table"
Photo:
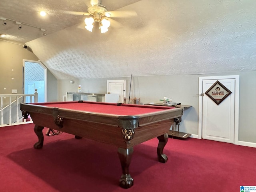
[[[170,138],[166,164],[157,162],[157,139],[134,147],[134,186],[122,189],[115,146],[63,133],[45,136],[35,150],[33,128],[0,128],[1,192],[238,192],[240,185],[256,185],[256,148]]]

